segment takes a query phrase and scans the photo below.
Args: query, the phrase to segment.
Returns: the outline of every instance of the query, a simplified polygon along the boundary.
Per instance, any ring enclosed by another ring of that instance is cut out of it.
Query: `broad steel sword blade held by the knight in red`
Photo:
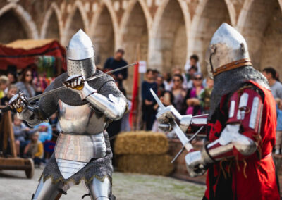
[[[157,94],[154,93],[154,90],[151,88],[150,89],[152,95],[154,96],[154,99],[157,101],[157,104],[159,104],[159,107],[161,109],[164,109],[165,106],[163,103],[161,103],[161,100],[159,100]],[[184,132],[180,129],[180,127],[178,126],[178,124],[176,123],[175,120],[171,120],[169,122],[169,124],[171,125],[171,127],[173,128],[174,132],[176,132],[177,137],[180,139],[180,142],[183,144],[184,148],[190,152],[193,149],[192,144],[190,143],[190,139],[188,139],[186,137],[186,135],[184,134]],[[178,155],[179,156],[179,155]]]

